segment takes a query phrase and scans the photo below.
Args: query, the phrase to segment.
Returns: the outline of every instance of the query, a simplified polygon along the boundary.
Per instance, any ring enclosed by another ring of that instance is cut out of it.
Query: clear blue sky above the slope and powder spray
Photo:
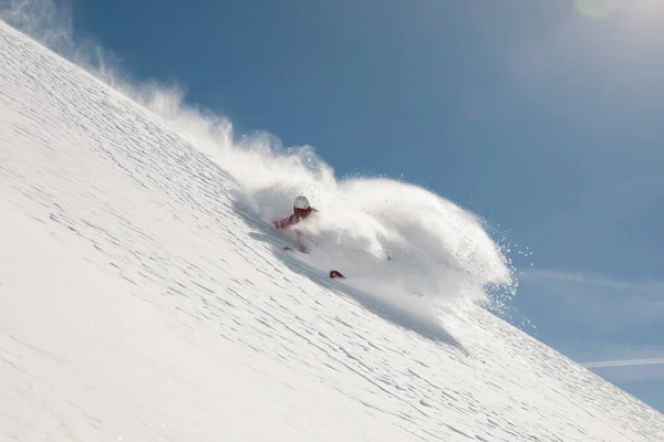
[[[662,2],[69,4],[76,38],[135,81],[311,145],[339,176],[425,186],[529,246],[515,306],[556,349],[664,357]],[[664,410],[664,364],[593,369]]]

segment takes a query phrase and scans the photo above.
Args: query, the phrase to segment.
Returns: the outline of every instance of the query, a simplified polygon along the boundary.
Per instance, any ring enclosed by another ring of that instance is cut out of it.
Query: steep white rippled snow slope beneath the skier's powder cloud
[[[419,320],[277,253],[239,190],[0,23],[1,440],[664,440],[467,299]]]

